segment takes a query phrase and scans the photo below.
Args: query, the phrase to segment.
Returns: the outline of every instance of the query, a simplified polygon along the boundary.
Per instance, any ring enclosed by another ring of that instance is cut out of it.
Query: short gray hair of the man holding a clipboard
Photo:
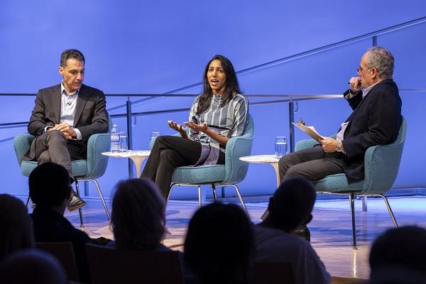
[[[393,55],[386,48],[375,46],[367,50],[366,63],[369,68],[376,68],[381,79],[391,79],[393,77]]]

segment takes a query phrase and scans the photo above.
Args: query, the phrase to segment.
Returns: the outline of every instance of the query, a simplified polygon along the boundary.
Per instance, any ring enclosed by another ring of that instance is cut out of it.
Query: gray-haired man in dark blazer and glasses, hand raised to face
[[[354,111],[342,123],[337,138],[325,137],[313,148],[280,158],[281,181],[293,177],[315,181],[337,173],[345,173],[349,180],[364,179],[367,148],[395,141],[403,121],[393,66],[393,55],[385,48],[367,50],[358,77],[349,80],[350,88],[344,92]]]

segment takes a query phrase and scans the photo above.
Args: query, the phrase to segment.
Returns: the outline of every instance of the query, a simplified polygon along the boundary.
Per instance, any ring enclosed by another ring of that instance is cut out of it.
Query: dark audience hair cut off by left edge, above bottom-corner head
[[[0,195],[0,262],[9,254],[34,246],[31,217],[21,200]]]

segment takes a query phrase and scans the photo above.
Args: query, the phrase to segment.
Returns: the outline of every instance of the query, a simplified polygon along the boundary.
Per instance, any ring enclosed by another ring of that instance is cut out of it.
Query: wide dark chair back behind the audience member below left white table
[[[178,251],[124,251],[86,245],[93,284],[183,284]]]

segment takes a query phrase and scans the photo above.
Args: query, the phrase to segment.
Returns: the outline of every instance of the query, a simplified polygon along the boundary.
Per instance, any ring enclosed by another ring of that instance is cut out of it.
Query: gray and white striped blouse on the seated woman
[[[198,100],[194,99],[190,110],[189,121],[197,121],[197,124],[206,123],[210,130],[225,137],[241,136],[244,133],[247,120],[249,104],[247,99],[241,94],[236,94],[223,107],[219,107],[222,102],[221,95],[213,95],[210,107],[202,114],[197,115]],[[224,152],[223,146],[204,132],[189,129],[189,137],[193,141],[201,143],[200,159],[195,165],[215,165],[219,158],[219,151]]]

